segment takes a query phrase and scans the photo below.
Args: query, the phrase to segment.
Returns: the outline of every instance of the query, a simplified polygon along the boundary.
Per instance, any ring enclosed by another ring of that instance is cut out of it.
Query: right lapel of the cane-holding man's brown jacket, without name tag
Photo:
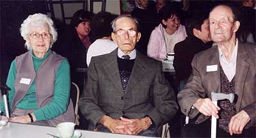
[[[241,100],[243,98],[244,82],[246,74],[248,73],[250,64],[246,62],[248,55],[244,49],[243,44],[239,44],[237,47],[237,58],[236,58],[236,84],[235,91],[237,95],[236,111],[239,111],[241,107]]]

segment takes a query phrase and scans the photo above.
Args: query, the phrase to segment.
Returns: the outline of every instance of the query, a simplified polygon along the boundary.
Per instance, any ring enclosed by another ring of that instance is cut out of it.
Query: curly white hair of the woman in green
[[[49,18],[47,15],[44,15],[42,13],[35,13],[33,15],[29,15],[26,20],[21,24],[20,27],[20,34],[23,37],[23,39],[26,41],[25,47],[28,50],[31,50],[32,47],[29,43],[29,34],[31,33],[32,27],[43,27],[47,26],[49,29],[49,33],[51,34],[51,45],[56,42],[58,33],[54,27],[53,21],[51,18]]]

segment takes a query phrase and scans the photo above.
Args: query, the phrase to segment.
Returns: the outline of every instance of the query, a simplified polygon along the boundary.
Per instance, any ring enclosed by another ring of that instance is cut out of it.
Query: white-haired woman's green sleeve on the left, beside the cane
[[[9,109],[11,109],[12,99],[13,99],[13,96],[15,94],[14,84],[15,84],[15,78],[16,78],[16,73],[17,73],[16,66],[15,66],[15,61],[16,61],[15,59],[12,61],[12,64],[10,66],[10,70],[9,70],[9,73],[8,73],[8,77],[7,77],[7,80],[6,80],[6,86],[8,86],[11,89],[10,91],[8,91]],[[4,112],[3,115],[5,115],[3,98],[1,98],[0,111]]]

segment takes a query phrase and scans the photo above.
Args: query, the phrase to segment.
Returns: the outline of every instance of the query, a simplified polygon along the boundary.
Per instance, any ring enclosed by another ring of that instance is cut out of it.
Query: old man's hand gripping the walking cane
[[[200,98],[193,106],[205,116],[219,118],[218,111],[220,110],[220,107],[216,107],[210,98]]]

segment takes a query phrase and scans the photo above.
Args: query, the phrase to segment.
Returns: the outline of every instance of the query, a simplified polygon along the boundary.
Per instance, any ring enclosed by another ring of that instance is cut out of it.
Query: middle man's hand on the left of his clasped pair
[[[113,119],[109,116],[104,115],[99,123],[104,125],[104,127],[108,128],[112,133],[118,133],[118,134],[132,134],[132,132],[125,127],[125,124],[128,124],[129,122],[124,122],[120,119]]]

